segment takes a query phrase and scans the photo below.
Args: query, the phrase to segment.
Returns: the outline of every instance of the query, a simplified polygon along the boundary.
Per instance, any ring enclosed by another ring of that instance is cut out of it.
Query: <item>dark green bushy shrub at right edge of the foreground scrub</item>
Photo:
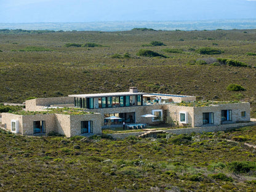
[[[256,162],[252,161],[233,161],[228,163],[228,169],[236,173],[247,173],[256,170]]]

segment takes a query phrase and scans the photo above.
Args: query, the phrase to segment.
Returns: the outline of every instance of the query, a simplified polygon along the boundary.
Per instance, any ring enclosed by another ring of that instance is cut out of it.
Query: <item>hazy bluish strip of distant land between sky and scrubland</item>
[[[245,20],[205,20],[167,22],[88,22],[88,23],[0,23],[0,29],[54,30],[54,31],[127,31],[133,28],[153,28],[154,30],[233,30],[255,29],[255,19]]]

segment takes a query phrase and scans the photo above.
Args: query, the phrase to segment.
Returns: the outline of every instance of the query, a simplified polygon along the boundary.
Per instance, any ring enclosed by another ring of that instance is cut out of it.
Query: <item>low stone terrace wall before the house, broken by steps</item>
[[[236,124],[225,124],[221,126],[212,126],[212,127],[194,127],[194,128],[181,128],[181,129],[169,129],[165,130],[167,133],[170,134],[192,134],[194,133],[202,133],[202,132],[218,132],[218,131],[225,131],[230,130],[238,127],[246,127],[246,126],[255,126],[256,122],[242,122],[242,123],[236,123]],[[129,136],[135,136],[142,135],[146,133],[147,131],[142,132],[130,132],[130,133],[123,133],[123,134],[108,134],[111,135],[113,138],[126,138]]]

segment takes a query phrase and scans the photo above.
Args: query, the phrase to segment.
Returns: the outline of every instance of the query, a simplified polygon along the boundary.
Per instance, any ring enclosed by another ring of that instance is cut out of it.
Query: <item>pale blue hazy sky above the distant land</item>
[[[0,23],[256,18],[256,0],[0,0]]]

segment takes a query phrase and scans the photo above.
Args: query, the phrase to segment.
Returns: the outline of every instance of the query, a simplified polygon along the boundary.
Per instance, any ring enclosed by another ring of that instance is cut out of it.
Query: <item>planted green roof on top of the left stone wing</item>
[[[50,108],[47,111],[15,111],[15,112],[9,112],[9,113],[20,114],[20,115],[52,114],[52,113],[68,114],[68,115],[94,114],[94,112],[88,112],[80,108]]]

